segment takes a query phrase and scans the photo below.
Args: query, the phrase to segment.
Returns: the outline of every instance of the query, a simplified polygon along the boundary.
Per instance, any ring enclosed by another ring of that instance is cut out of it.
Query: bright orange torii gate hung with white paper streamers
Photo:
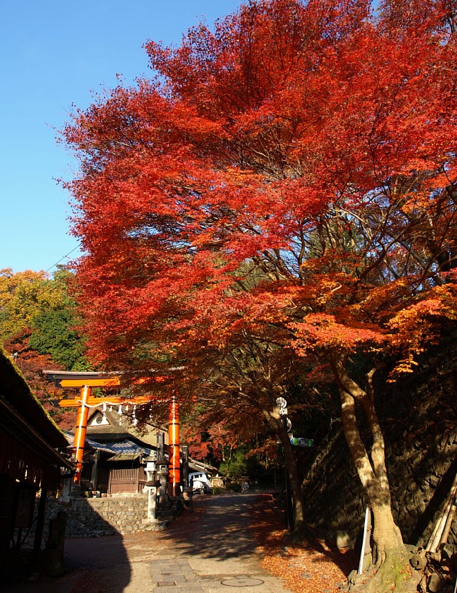
[[[60,407],[78,407],[76,416],[75,437],[73,439],[73,451],[76,460],[76,471],[73,478],[75,485],[80,484],[82,472],[82,456],[84,454],[84,441],[87,432],[87,418],[89,416],[89,407],[102,405],[104,402],[109,404],[132,404],[141,405],[156,400],[155,396],[135,396],[134,398],[120,397],[92,397],[93,387],[119,387],[120,378],[115,373],[78,373],[73,371],[43,371],[48,380],[52,381],[57,387],[80,388],[80,398],[71,400],[60,400]],[[145,382],[147,379],[138,378],[136,383]],[[175,398],[169,403],[168,416],[168,448],[169,461],[168,482],[170,494],[179,496],[181,493],[181,464],[179,459],[179,405]]]

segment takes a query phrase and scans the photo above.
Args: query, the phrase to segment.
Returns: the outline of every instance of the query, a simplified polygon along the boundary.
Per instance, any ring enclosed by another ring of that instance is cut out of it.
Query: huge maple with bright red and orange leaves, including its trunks
[[[159,76],[75,112],[63,134],[82,163],[68,186],[94,359],[179,363],[183,397],[260,409],[297,529],[276,398],[310,360],[328,364],[386,574],[403,544],[376,366],[362,385],[348,361],[392,348],[411,371],[457,317],[454,22],[444,1],[385,1],[377,19],[365,1],[250,2],[178,48],[149,42]]]

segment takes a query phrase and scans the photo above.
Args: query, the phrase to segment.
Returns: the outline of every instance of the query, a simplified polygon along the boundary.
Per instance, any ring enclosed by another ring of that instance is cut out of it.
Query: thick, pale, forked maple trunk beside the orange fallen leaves
[[[330,362],[339,386],[343,431],[368,504],[373,511],[373,540],[376,546],[377,565],[380,566],[389,557],[402,554],[404,545],[400,529],[393,520],[391,491],[384,456],[384,437],[375,411],[373,391],[370,388],[367,393],[349,377],[346,371],[346,359],[346,355],[332,353]],[[372,375],[373,373],[368,376],[369,381]],[[359,431],[355,400],[361,402],[373,436],[369,455]]]

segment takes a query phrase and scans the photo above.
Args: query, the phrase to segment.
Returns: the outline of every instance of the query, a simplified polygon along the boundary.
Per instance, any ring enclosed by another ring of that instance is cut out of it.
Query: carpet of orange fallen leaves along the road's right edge
[[[251,530],[262,552],[261,566],[283,578],[293,593],[337,593],[339,583],[355,568],[352,554],[341,554],[323,542],[292,540],[271,495],[259,497],[251,509]]]

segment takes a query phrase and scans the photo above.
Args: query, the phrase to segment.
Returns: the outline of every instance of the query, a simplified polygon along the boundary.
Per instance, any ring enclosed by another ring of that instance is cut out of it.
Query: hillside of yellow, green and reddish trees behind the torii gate
[[[73,412],[58,407],[64,391],[49,384],[42,371],[89,369],[72,279],[64,268],[52,277],[31,270],[0,271],[0,342],[53,420],[68,429],[75,419]]]

